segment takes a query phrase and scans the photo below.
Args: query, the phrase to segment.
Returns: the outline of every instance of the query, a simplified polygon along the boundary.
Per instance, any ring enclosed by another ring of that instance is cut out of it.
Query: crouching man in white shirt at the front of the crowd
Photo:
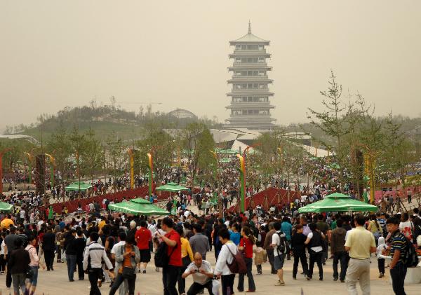
[[[212,293],[212,278],[213,270],[210,263],[206,260],[202,260],[202,256],[199,252],[194,254],[194,262],[187,266],[185,272],[181,275],[183,279],[193,275],[193,284],[190,286],[188,295],[196,295],[203,291],[204,288],[208,289],[209,294]]]

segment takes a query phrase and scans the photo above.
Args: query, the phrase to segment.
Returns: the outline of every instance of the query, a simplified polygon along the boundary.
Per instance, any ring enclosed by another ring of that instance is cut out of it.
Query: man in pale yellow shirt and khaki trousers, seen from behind
[[[349,253],[349,264],[345,282],[349,295],[357,295],[359,280],[363,295],[370,294],[370,253],[375,253],[374,235],[364,228],[366,218],[358,214],[354,218],[355,228],[347,233],[345,251]]]

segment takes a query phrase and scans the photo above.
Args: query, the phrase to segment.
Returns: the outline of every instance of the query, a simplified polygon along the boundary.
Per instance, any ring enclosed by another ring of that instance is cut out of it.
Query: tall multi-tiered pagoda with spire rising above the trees
[[[229,55],[234,63],[228,67],[233,75],[227,81],[232,84],[231,92],[227,93],[231,104],[226,107],[231,114],[224,127],[273,129],[276,120],[271,118],[270,109],[274,109],[274,106],[269,100],[274,95],[269,91],[269,84],[273,80],[267,76],[267,71],[272,67],[266,61],[271,56],[266,52],[269,41],[253,35],[248,22],[248,33],[240,39],[229,41],[229,45],[235,46],[234,53]]]

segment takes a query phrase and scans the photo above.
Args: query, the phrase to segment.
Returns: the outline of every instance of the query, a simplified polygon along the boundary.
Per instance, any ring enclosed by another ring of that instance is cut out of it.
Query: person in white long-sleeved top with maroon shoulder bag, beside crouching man
[[[229,240],[229,232],[227,228],[221,228],[218,231],[218,238],[222,244],[218,260],[216,261],[214,274],[221,279],[222,295],[233,294],[235,273],[232,272],[230,266],[234,263],[234,255],[238,250],[234,242]]]

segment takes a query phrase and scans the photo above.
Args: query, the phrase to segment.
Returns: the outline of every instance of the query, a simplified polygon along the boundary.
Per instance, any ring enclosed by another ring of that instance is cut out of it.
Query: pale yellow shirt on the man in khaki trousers
[[[349,247],[349,257],[354,259],[370,258],[370,247],[375,247],[374,235],[363,226],[348,231],[345,247]]]

